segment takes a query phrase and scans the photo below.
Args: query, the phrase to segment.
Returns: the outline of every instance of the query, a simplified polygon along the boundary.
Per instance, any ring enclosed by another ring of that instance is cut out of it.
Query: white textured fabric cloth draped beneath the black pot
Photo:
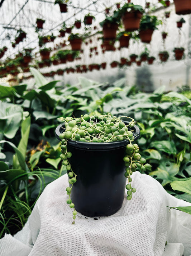
[[[190,256],[191,215],[166,206],[190,206],[151,176],[134,172],[137,189],[109,217],[76,215],[67,205],[67,175],[53,181],[24,228],[0,239],[0,256]],[[165,246],[165,242],[168,242]]]

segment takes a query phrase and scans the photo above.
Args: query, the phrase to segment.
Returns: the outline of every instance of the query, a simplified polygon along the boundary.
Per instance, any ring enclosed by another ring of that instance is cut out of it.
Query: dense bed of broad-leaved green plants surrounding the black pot
[[[0,237],[20,230],[46,184],[66,173],[55,138],[61,116],[112,113],[134,118],[141,133],[140,154],[152,166],[146,173],[168,193],[191,202],[190,193],[171,187],[191,177],[188,90],[166,93],[160,87],[147,94],[126,85],[124,78],[100,84],[81,77],[76,85],[63,85],[30,71],[33,85],[0,85]]]

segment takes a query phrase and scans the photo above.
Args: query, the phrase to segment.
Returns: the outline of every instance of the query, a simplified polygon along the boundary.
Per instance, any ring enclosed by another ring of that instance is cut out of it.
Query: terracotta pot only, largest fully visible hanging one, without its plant
[[[137,12],[126,12],[122,16],[123,24],[126,31],[138,30],[142,13]]]

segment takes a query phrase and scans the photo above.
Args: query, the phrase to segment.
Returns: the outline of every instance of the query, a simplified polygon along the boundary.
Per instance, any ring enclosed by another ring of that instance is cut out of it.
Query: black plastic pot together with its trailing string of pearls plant
[[[77,211],[89,217],[114,214],[122,206],[125,188],[127,200],[136,192],[132,173],[151,169],[138,153],[138,144],[132,144],[139,138],[138,127],[130,117],[111,114],[61,120],[56,137],[61,140],[60,157],[69,179],[66,203],[72,209],[72,224]]]

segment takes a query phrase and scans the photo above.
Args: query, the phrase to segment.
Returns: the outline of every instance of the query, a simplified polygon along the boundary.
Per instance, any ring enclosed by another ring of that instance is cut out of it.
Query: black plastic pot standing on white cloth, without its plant
[[[132,129],[137,140],[140,130],[136,125]],[[56,128],[57,139],[64,130],[64,124]],[[126,185],[123,157],[128,143],[68,140],[67,150],[72,153],[69,161],[77,175],[71,199],[78,212],[88,217],[110,216],[121,208]]]

